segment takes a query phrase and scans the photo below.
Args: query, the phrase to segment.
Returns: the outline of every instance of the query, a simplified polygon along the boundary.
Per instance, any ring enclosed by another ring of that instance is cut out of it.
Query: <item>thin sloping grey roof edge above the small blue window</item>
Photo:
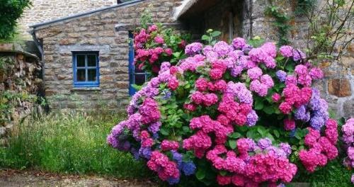
[[[67,20],[74,19],[74,18],[81,18],[83,16],[87,16],[87,15],[90,15],[90,14],[93,14],[93,13],[98,13],[98,12],[101,12],[101,11],[106,11],[106,10],[109,10],[109,9],[112,9],[112,8],[124,8],[125,6],[132,6],[132,5],[138,4],[138,3],[142,2],[142,1],[147,1],[147,0],[126,1],[126,2],[124,2],[122,4],[116,4],[116,5],[109,6],[109,7],[98,8],[98,9],[93,10],[93,11],[88,11],[88,12],[85,12],[85,13],[78,13],[78,14],[75,14],[73,16],[67,16],[67,17],[58,18],[58,19],[55,19],[55,20],[52,20],[52,21],[46,21],[46,22],[43,22],[43,23],[38,23],[38,24],[30,26],[30,28],[38,28],[38,27],[41,27],[41,26],[49,26],[49,25],[51,25],[53,23],[58,23],[58,22],[61,22],[61,21],[67,21]]]

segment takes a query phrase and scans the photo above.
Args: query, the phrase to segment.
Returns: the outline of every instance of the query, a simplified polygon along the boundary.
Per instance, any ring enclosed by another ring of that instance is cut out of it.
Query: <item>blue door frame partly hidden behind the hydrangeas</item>
[[[129,94],[134,95],[137,90],[134,85],[141,86],[149,79],[150,74],[147,71],[136,69],[134,64],[134,43],[133,34],[129,33],[130,43],[129,43]]]

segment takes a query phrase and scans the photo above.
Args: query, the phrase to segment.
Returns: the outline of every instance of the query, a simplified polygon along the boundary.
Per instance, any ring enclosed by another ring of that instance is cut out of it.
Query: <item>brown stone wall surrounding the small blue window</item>
[[[42,40],[45,68],[45,95],[52,108],[76,108],[69,96],[76,94],[84,108],[98,107],[98,101],[110,108],[124,109],[129,98],[128,30],[115,30],[116,24],[138,25],[140,13],[152,4],[155,21],[173,23],[171,15],[178,1],[143,1],[133,6],[110,8],[81,18],[35,29]],[[73,86],[72,51],[98,51],[100,86],[77,89]],[[56,99],[56,98],[60,99]]]

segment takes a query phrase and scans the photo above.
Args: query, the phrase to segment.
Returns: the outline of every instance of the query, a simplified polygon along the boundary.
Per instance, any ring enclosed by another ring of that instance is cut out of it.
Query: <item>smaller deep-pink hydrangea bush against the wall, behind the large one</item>
[[[161,62],[176,64],[184,57],[186,40],[188,35],[178,34],[172,28],[163,28],[161,24],[137,29],[134,33],[136,67],[156,75]]]

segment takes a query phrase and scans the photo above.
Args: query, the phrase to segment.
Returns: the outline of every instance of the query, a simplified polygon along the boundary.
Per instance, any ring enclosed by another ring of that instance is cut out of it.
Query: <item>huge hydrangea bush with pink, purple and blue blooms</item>
[[[312,87],[323,73],[302,51],[235,38],[194,42],[185,54],[132,96],[110,146],[171,185],[277,186],[300,165],[312,172],[337,157],[337,123]]]

